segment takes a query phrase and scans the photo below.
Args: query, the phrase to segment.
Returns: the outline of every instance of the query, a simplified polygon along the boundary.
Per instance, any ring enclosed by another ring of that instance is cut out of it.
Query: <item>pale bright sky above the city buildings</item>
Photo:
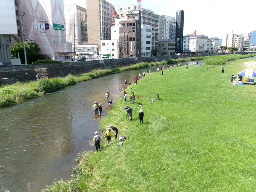
[[[86,0],[64,0],[86,8]],[[106,0],[114,8],[137,5],[137,0]],[[142,8],[155,14],[176,17],[184,11],[183,35],[193,33],[222,38],[223,34],[242,34],[256,30],[254,0],[141,0]]]

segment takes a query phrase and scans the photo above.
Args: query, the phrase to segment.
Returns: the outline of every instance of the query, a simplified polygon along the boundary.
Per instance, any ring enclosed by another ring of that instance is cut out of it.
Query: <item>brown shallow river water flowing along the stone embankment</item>
[[[54,179],[68,180],[77,154],[95,150],[89,140],[96,130],[101,135],[99,121],[111,109],[106,91],[115,101],[122,96],[124,79],[134,82],[143,71],[115,73],[0,107],[0,191],[38,192]],[[102,103],[102,117],[93,113],[95,101]]]

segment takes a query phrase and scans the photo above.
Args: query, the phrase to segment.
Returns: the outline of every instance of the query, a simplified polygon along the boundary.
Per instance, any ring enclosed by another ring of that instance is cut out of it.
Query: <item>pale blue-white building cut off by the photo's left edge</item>
[[[0,6],[0,62],[11,65],[11,44],[19,40],[19,13],[17,1],[1,0]]]

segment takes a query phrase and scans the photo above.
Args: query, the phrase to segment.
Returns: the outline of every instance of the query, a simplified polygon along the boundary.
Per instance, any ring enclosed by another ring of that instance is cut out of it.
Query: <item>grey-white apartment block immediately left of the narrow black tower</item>
[[[176,20],[174,17],[160,16],[160,34],[159,34],[159,53],[174,54],[175,53],[175,33]]]

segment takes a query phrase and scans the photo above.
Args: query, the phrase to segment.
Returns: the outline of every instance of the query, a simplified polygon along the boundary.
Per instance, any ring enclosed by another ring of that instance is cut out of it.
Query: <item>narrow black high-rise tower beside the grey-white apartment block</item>
[[[183,29],[184,29],[184,11],[176,11],[176,52],[183,52]]]

